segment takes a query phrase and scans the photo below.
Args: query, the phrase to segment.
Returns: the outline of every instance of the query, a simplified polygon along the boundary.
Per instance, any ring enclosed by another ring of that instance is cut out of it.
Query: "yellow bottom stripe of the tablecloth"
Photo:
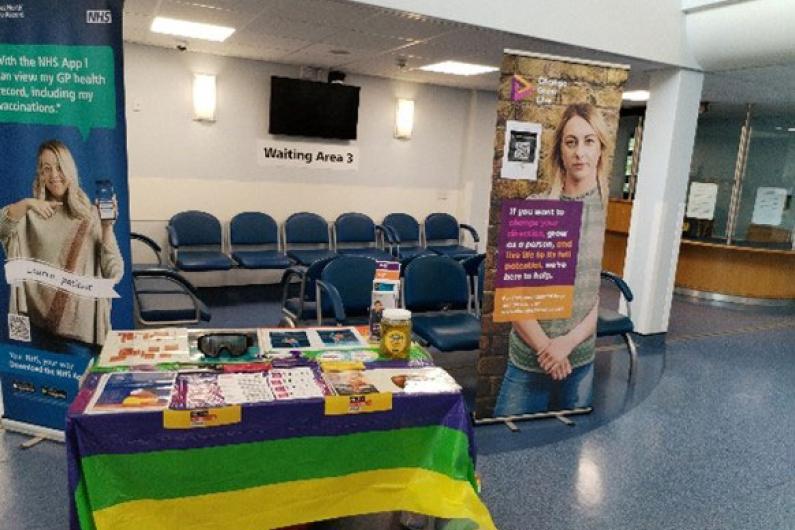
[[[471,519],[482,530],[496,530],[469,482],[420,468],[366,471],[194,497],[134,500],[94,512],[94,521],[97,530],[265,530],[401,510]]]

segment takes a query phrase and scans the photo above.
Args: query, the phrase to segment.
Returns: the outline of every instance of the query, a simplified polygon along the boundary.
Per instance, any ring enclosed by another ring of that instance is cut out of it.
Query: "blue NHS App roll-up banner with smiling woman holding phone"
[[[129,328],[121,0],[0,3],[3,423],[64,428],[91,356]]]

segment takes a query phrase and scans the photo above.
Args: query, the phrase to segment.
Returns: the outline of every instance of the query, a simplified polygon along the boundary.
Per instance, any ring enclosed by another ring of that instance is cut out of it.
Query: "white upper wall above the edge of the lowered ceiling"
[[[698,68],[688,47],[681,0],[356,1],[553,42]]]

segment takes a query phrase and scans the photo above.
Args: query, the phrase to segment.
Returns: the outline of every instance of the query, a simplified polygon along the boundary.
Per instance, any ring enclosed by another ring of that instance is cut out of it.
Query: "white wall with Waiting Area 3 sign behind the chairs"
[[[359,211],[377,222],[395,211],[420,220],[446,211],[485,234],[496,94],[349,76],[362,87],[351,143],[358,171],[261,167],[255,143],[270,137],[270,76],[297,77],[298,67],[129,43],[124,50],[134,230],[163,241],[166,221],[186,209],[222,222],[245,210],[279,222],[302,210],[330,221]],[[218,76],[213,124],[192,120],[194,72]],[[407,141],[392,134],[397,97],[416,101]]]

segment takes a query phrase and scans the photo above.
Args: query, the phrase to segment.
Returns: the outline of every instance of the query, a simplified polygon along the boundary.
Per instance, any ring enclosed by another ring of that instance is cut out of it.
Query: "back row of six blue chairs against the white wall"
[[[300,212],[279,227],[266,213],[243,212],[229,222],[228,254],[221,223],[207,212],[180,212],[166,230],[171,262],[182,271],[286,269],[338,254],[405,262],[427,254],[463,259],[477,254],[480,241],[472,226],[446,213],[433,213],[422,225],[409,214],[393,213],[378,225],[362,213],[344,213],[329,224],[318,214]],[[473,247],[462,245],[465,233]]]

